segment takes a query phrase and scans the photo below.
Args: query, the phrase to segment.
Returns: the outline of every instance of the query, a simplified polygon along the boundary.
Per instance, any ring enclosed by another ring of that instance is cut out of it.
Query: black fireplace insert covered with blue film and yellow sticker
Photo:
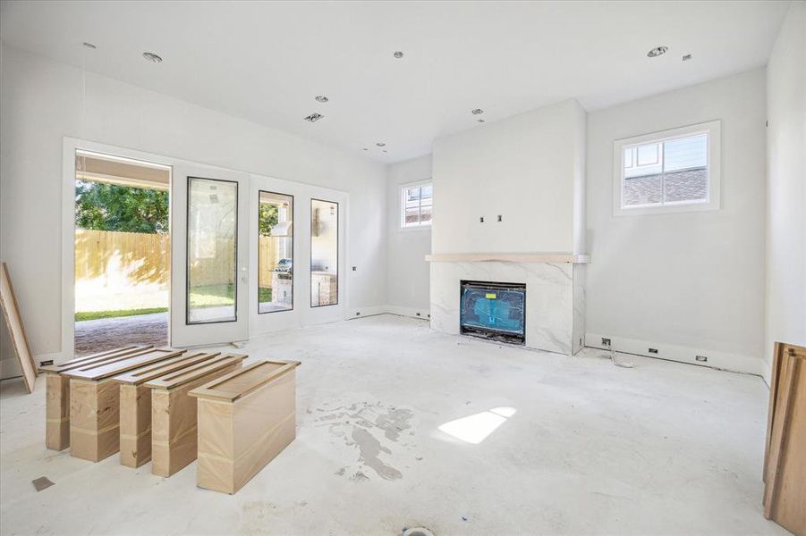
[[[514,344],[526,342],[526,285],[460,281],[461,333]]]

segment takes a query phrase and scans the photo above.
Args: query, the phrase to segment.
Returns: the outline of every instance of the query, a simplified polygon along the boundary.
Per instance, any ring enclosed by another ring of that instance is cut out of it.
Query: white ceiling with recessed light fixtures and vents
[[[89,41],[89,71],[395,162],[484,128],[473,108],[495,121],[576,97],[590,111],[764,65],[788,4],[4,1],[0,31],[76,66]]]

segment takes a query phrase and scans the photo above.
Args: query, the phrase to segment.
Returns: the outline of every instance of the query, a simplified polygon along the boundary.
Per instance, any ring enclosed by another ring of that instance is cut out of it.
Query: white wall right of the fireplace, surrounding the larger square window
[[[588,115],[588,345],[761,372],[765,71]],[[613,216],[613,142],[722,120],[722,207]]]

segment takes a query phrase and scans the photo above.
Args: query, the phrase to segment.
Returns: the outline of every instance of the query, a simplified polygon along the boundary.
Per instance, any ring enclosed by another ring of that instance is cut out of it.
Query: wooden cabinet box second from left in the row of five
[[[116,374],[182,355],[184,350],[149,348],[115,361],[64,371],[70,379],[70,454],[99,461],[120,448],[120,387]]]

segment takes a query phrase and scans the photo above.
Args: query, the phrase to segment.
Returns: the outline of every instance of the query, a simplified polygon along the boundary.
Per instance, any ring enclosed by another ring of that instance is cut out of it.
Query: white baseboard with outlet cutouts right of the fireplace
[[[764,377],[764,360],[760,357],[743,356],[730,352],[719,352],[704,348],[691,348],[663,342],[650,342],[639,339],[626,339],[615,335],[601,333],[585,333],[585,346],[588,348],[609,349],[603,345],[602,338],[610,339],[611,348],[616,352],[635,356],[656,357],[679,363],[697,364],[734,373],[755,374]],[[649,353],[649,348],[658,350],[657,354]],[[707,361],[698,361],[697,356],[705,356]]]

